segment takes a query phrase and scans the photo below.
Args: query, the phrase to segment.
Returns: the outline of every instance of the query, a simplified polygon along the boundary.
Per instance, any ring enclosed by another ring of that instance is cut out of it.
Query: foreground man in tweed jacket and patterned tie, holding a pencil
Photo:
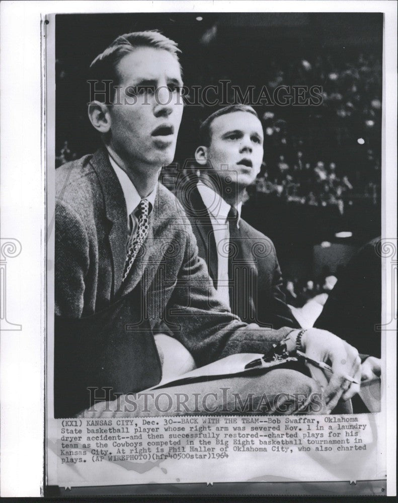
[[[166,413],[162,401],[137,410],[128,408],[126,398],[160,380],[153,333],[166,330],[197,366],[235,353],[263,354],[285,340],[290,354],[299,346],[315,359],[331,361],[334,375],[322,394],[323,410],[333,409],[341,397],[350,398],[358,386],[344,376],[359,379],[357,351],[330,332],[259,328],[232,314],[198,258],[181,206],[157,183],[162,166],[173,160],[183,111],[175,42],[157,32],[122,35],[91,68],[95,80],[113,82],[111,96],[94,97],[89,105],[103,146],[56,173],[56,414],[87,407],[86,388],[96,386],[112,388],[112,395],[105,407],[88,414]],[[187,406],[208,412],[208,402],[193,403],[195,394],[208,396],[209,389],[217,388],[210,393],[211,411],[225,411],[220,384],[233,387],[243,401],[248,394],[259,401],[266,393],[271,402],[281,393],[287,396],[284,402],[294,401],[297,393],[306,397],[285,413],[308,408],[311,393],[320,391],[303,374],[273,370],[183,386]],[[69,400],[66,406],[64,400]],[[177,405],[173,402],[167,414],[186,412]],[[266,412],[275,412],[275,405]]]

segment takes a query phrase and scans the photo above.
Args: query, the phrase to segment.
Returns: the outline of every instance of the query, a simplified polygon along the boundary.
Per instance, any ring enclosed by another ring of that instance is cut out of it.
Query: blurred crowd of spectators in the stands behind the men
[[[285,67],[270,64],[271,76],[266,82],[270,92],[291,82],[308,87],[317,82],[322,85],[323,101],[317,107],[307,107],[310,114],[302,125],[296,118],[289,121],[286,117],[291,115],[291,107],[288,113],[278,106],[272,111],[258,110],[265,154],[254,189],[287,203],[336,206],[341,215],[345,206],[360,196],[376,205],[380,197],[380,154],[374,151],[381,131],[380,63],[363,54],[351,62],[336,62],[332,56],[309,59],[291,61]],[[314,125],[316,135],[312,134]],[[324,135],[321,138],[320,132]],[[314,136],[321,140],[316,145]],[[362,150],[356,166],[347,166],[341,152],[335,150],[340,160],[336,162],[331,153],[331,146],[344,150],[347,141]],[[56,165],[76,157],[65,138]]]

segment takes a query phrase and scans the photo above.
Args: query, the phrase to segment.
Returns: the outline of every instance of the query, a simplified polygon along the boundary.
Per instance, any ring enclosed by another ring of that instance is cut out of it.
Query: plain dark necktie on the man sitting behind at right
[[[242,292],[242,236],[237,226],[238,213],[233,206],[229,210],[227,220],[229,223],[229,253],[228,253],[228,279],[229,279],[229,304],[231,311],[241,316],[243,310],[244,292]]]

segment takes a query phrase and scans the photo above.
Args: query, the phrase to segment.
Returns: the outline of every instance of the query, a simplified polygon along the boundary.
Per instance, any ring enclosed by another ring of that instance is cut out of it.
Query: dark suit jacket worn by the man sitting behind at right
[[[218,257],[208,210],[197,187],[192,188],[192,183],[187,184],[187,190],[179,190],[178,196],[191,221],[199,257],[206,261],[213,284],[217,288]],[[235,314],[247,323],[255,322],[273,328],[298,328],[299,325],[286,305],[281,291],[282,276],[271,239],[241,219],[238,243],[242,259],[237,262],[236,267],[241,270],[245,268],[246,272],[243,275],[245,284],[241,292],[234,292],[242,294],[241,302],[238,303],[240,312]]]

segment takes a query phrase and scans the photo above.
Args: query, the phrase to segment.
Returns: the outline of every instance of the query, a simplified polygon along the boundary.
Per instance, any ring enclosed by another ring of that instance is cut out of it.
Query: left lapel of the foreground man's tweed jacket
[[[110,223],[109,245],[112,254],[113,285],[112,294],[119,291],[122,284],[126,260],[127,208],[123,191],[104,148],[93,155],[91,164],[97,174],[104,198],[106,217]]]

